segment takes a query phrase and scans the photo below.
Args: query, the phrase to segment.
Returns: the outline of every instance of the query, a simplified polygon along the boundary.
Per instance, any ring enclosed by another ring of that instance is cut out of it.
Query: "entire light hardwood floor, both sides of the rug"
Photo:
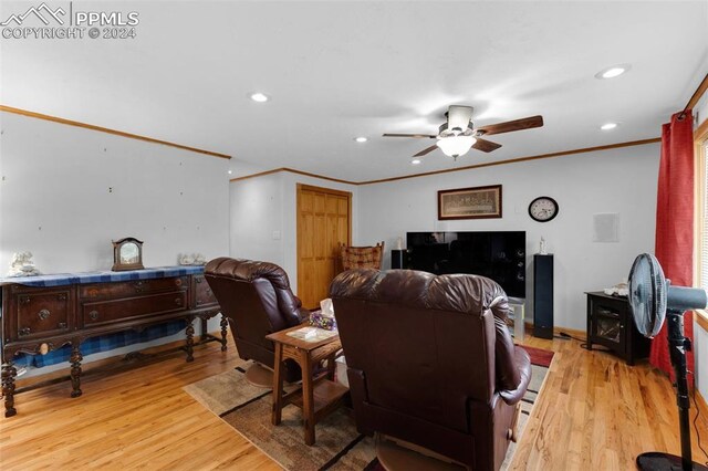
[[[512,469],[629,470],[642,451],[679,452],[667,378],[647,365],[628,367],[587,352],[577,341],[527,336],[524,343],[556,355]],[[70,383],[20,394],[18,416],[0,418],[0,468],[279,469],[181,389],[233,367],[237,358],[232,343],[227,353],[211,343],[196,348],[191,364],[173,353],[124,373],[87,375],[81,398],[69,397]],[[707,419],[702,408],[704,448]],[[694,459],[708,457],[694,444]]]

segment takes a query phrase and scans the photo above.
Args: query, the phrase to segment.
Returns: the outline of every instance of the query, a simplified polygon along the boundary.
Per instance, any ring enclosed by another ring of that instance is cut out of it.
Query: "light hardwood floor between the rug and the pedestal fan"
[[[553,349],[543,390],[514,453],[513,470],[633,470],[644,451],[680,454],[676,396],[667,377],[647,363],[634,367],[577,341],[527,337],[524,344]],[[708,456],[697,446],[694,460]],[[708,449],[708,410],[697,421]]]

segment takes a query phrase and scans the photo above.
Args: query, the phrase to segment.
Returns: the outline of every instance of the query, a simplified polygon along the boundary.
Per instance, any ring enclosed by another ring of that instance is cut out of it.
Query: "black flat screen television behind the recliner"
[[[508,296],[527,294],[525,231],[407,232],[406,268],[494,280]]]

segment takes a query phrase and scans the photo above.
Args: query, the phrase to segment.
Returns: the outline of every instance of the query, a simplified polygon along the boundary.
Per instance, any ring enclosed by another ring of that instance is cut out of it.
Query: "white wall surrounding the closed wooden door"
[[[231,182],[230,257],[280,265],[298,292],[298,184],[352,192],[352,243],[358,243],[358,187],[290,171]],[[275,239],[273,232],[280,233]]]

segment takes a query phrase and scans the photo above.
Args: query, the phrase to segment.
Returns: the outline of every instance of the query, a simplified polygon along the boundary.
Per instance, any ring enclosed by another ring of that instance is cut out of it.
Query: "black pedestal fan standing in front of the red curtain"
[[[671,286],[664,278],[662,265],[654,255],[643,253],[636,258],[629,272],[629,306],[637,329],[647,337],[658,334],[664,318],[668,322],[668,345],[671,365],[676,371],[676,395],[681,436],[681,456],[650,451],[637,457],[637,467],[646,471],[708,471],[693,462],[690,452],[690,426],[688,409],[688,383],[686,380],[686,352],[690,339],[684,336],[684,312],[705,308],[708,295],[705,290]]]

